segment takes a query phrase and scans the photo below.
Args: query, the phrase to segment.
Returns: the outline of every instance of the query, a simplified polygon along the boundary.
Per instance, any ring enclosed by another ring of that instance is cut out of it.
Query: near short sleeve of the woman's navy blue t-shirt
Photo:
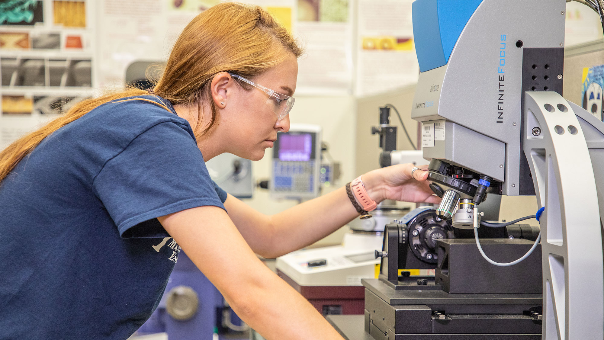
[[[156,217],[205,205],[224,209],[226,200],[187,126],[172,121],[150,127],[109,159],[93,188],[126,238],[167,236]]]

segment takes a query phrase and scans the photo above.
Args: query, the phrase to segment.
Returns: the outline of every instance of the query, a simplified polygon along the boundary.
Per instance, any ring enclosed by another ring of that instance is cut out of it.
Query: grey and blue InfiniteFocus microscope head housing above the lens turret
[[[416,21],[435,6],[438,17]],[[535,194],[523,94],[562,94],[565,1],[416,1],[413,11],[421,74],[411,117],[422,122],[424,158],[489,176],[500,194]],[[447,11],[456,14],[443,19]]]

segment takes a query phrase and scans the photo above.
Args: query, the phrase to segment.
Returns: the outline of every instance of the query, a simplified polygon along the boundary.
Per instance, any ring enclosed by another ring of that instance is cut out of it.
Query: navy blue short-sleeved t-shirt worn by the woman
[[[48,136],[0,182],[0,338],[126,339],[180,247],[156,217],[224,208],[169,101],[103,104]]]

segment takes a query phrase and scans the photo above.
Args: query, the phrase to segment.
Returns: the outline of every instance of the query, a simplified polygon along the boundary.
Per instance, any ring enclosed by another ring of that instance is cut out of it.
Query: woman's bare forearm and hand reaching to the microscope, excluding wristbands
[[[413,164],[380,168],[362,176],[368,196],[406,202],[438,202],[426,179],[428,173],[416,171]],[[344,187],[329,194],[267,216],[240,200],[226,199],[229,216],[248,245],[263,257],[273,258],[308,246],[359,216]]]

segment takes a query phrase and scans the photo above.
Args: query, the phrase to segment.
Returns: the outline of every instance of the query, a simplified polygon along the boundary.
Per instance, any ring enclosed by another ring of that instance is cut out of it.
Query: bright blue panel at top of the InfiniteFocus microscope
[[[483,0],[416,0],[413,39],[421,72],[446,65],[461,31]]]

